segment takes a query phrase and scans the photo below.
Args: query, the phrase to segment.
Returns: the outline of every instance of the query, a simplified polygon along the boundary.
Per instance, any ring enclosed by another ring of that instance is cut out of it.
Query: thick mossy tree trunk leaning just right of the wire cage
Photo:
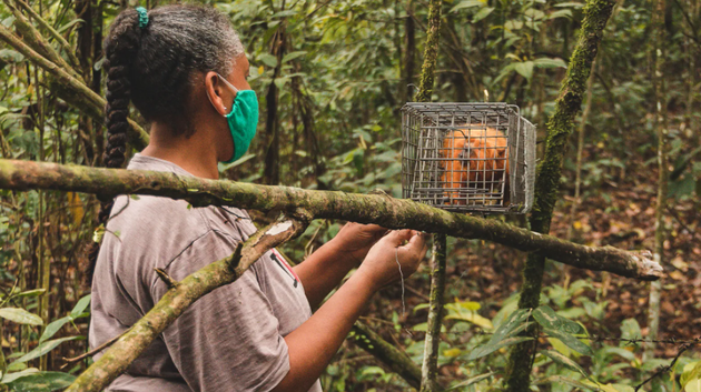
[[[562,82],[555,112],[547,122],[545,157],[537,168],[535,180],[535,202],[531,214],[531,229],[535,232],[550,232],[553,209],[560,198],[560,174],[566,152],[567,139],[574,130],[574,118],[581,110],[586,91],[592,62],[596,58],[604,27],[609,21],[614,2],[612,0],[589,0],[584,8],[584,20],[580,38],[570,59],[567,73]],[[545,269],[545,255],[530,253],[523,270],[523,285],[519,308],[532,309],[539,305]],[[535,334],[535,323],[525,333]],[[535,341],[517,344],[509,358],[506,375],[507,391],[530,391],[532,359]]]

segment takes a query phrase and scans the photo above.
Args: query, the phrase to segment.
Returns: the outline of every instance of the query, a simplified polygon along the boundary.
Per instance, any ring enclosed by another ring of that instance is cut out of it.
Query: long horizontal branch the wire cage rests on
[[[312,219],[377,223],[501,243],[535,252],[572,267],[621,277],[656,280],[662,267],[649,251],[585,247],[495,220],[452,213],[411,200],[378,194],[309,191],[290,187],[180,177],[175,173],[96,169],[33,161],[0,160],[0,189],[45,189],[113,197],[152,194],[184,199],[192,205],[234,205],[261,211],[303,209]]]

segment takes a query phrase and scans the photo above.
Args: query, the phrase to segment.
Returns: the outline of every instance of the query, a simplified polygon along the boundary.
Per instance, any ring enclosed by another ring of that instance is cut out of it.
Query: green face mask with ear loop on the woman
[[[250,145],[250,141],[256,135],[256,128],[258,125],[258,98],[255,91],[239,90],[220,74],[217,73],[217,77],[236,94],[231,111],[224,115],[229,124],[229,131],[231,131],[231,138],[234,139],[234,155],[224,163],[231,163],[244,157],[248,150],[248,145]]]

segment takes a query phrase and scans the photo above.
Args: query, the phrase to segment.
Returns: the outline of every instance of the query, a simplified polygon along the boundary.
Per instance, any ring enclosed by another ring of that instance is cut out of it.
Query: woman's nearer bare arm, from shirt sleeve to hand
[[[402,245],[407,240],[408,243]],[[416,271],[425,253],[426,237],[412,230],[393,231],[379,240],[358,271],[309,320],[285,336],[289,372],[273,392],[308,391],[373,294],[399,279],[396,260],[408,277]]]

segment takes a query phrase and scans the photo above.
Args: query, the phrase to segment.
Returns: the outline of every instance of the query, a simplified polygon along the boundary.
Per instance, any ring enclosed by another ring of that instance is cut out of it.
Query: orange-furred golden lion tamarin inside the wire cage
[[[458,129],[446,134],[441,149],[443,161],[442,187],[448,192],[447,204],[465,204],[460,189],[481,189],[485,193],[501,192],[501,181],[509,181],[509,144],[503,132],[493,129]],[[504,201],[509,199],[509,183],[504,187]]]

